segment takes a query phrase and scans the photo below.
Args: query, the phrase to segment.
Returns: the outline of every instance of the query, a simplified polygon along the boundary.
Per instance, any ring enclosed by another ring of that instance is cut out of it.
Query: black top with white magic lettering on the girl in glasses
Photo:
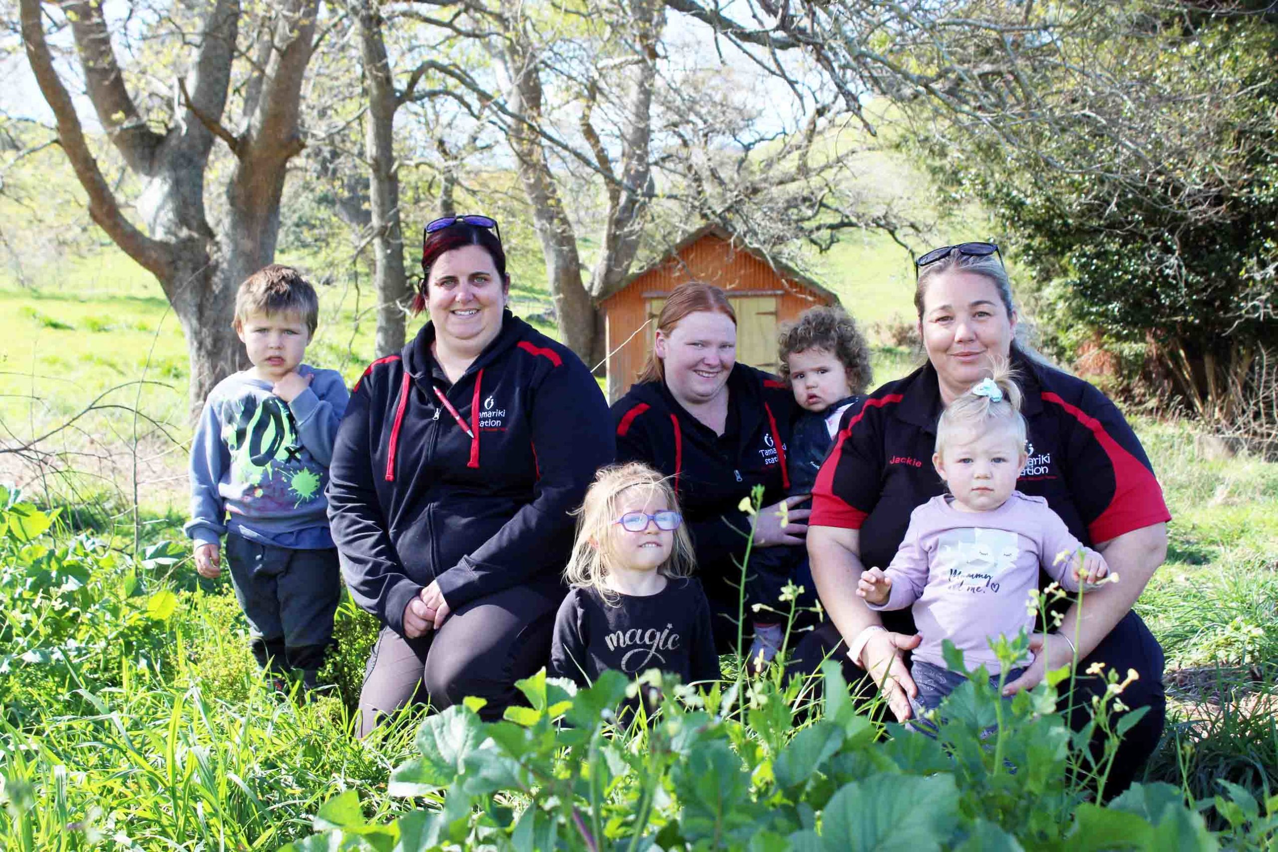
[[[675,577],[654,595],[617,595],[615,604],[594,589],[569,591],[555,618],[548,673],[587,686],[610,668],[629,677],[659,668],[684,683],[718,680],[702,584]]]

